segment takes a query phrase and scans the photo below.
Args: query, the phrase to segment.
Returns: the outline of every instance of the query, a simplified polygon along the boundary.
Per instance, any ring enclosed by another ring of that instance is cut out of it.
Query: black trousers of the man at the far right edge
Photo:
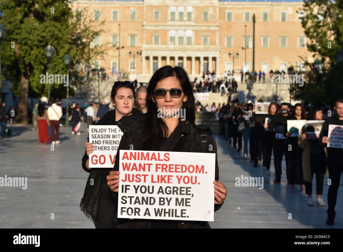
[[[343,174],[343,165],[328,164],[331,185],[328,192],[328,214],[333,214],[337,201],[337,190],[340,184],[341,175]]]

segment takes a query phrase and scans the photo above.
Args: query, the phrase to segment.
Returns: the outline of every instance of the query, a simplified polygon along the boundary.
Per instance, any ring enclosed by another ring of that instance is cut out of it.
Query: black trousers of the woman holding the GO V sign
[[[108,197],[108,185],[102,183],[98,217],[100,228],[112,228],[112,221],[115,212],[116,206],[110,202]]]

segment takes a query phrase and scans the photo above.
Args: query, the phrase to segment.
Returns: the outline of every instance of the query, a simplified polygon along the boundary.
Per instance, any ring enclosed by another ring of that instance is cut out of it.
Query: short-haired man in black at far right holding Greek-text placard
[[[322,146],[328,146],[330,144],[331,139],[329,139],[329,125],[337,125],[338,127],[343,126],[343,99],[339,98],[336,100],[335,106],[335,114],[332,117],[329,117],[324,123],[323,127],[320,131],[319,143]],[[340,179],[343,173],[343,149],[342,148],[334,148],[334,147],[327,147],[328,151],[328,158],[327,158],[327,165],[329,168],[330,174],[330,187],[328,192],[328,219],[326,221],[327,225],[334,225],[335,219],[335,205],[337,200],[337,190],[340,184]]]

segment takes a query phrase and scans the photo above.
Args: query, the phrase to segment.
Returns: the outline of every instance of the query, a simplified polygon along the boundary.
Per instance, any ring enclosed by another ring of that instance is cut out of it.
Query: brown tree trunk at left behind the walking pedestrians
[[[28,78],[27,75],[22,72],[20,78],[20,95],[19,105],[16,115],[17,122],[27,123],[27,103],[28,103]]]

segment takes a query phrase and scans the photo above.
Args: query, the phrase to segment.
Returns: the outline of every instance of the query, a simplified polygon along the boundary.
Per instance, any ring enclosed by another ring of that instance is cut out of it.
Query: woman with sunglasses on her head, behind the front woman
[[[111,91],[111,102],[115,109],[107,112],[95,125],[117,125],[119,119],[123,116],[141,114],[141,111],[133,108],[135,98],[131,82],[115,82]],[[82,158],[82,168],[90,172],[90,175],[80,207],[85,215],[93,220],[96,228],[111,228],[115,207],[108,199],[106,176],[113,167],[94,170],[89,168],[88,155],[95,149],[95,145],[87,142],[85,146],[86,151]],[[93,183],[91,183],[91,179],[94,180]]]

